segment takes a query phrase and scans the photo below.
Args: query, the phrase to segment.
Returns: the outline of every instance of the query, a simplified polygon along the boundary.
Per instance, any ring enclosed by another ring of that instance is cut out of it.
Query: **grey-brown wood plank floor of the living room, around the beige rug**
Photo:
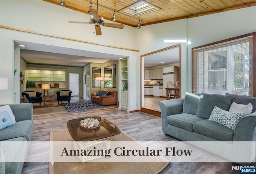
[[[72,97],[70,102],[84,101]],[[107,106],[105,109],[89,111],[67,112],[57,101],[53,105],[39,106],[34,104],[34,130],[32,141],[49,141],[51,131],[66,130],[66,123],[70,119],[100,116],[114,123],[119,129],[140,141],[178,141],[162,132],[161,118],[146,113],[127,113],[118,110],[117,105]],[[140,120],[140,124],[138,124]],[[238,164],[233,164],[238,165]],[[231,170],[229,162],[171,162],[161,174],[229,174],[240,173]],[[25,162],[22,174],[48,174],[48,162]]]

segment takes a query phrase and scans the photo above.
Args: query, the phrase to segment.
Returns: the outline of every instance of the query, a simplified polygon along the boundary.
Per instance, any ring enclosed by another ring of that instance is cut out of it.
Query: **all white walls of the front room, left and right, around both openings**
[[[0,104],[14,102],[11,97],[14,93],[14,40],[45,45],[51,45],[50,41],[54,40],[60,47],[129,57],[129,105],[130,111],[133,111],[140,108],[140,55],[176,44],[164,43],[164,39],[188,39],[192,42],[188,46],[182,43],[181,82],[184,97],[185,91],[191,91],[192,47],[256,31],[255,6],[142,26],[140,30],[130,26],[125,26],[123,30],[102,27],[102,35],[96,36],[93,25],[68,23],[88,21],[88,14],[39,0],[0,0],[0,4],[2,26],[140,50],[129,51],[0,28],[0,76],[9,79],[9,89],[0,91]]]

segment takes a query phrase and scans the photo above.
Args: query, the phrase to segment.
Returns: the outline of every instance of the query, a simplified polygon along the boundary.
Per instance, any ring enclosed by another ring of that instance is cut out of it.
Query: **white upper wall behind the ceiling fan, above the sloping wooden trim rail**
[[[93,24],[71,24],[68,21],[90,22],[90,15],[42,0],[0,0],[0,25],[2,26],[134,48],[133,27],[124,26],[124,29],[116,29],[101,26],[102,35],[96,36],[93,33]],[[109,20],[105,22],[114,23]]]

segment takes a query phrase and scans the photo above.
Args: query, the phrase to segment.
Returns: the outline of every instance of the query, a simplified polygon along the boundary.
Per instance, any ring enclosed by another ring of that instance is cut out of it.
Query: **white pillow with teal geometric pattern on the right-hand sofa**
[[[208,120],[228,127],[229,129],[235,130],[238,121],[244,116],[245,113],[230,113],[214,106],[214,109],[212,110]]]

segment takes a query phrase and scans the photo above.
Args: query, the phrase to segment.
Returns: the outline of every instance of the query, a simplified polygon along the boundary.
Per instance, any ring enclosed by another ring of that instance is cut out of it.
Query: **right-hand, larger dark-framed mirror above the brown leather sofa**
[[[104,67],[104,87],[116,87],[116,64]]]

